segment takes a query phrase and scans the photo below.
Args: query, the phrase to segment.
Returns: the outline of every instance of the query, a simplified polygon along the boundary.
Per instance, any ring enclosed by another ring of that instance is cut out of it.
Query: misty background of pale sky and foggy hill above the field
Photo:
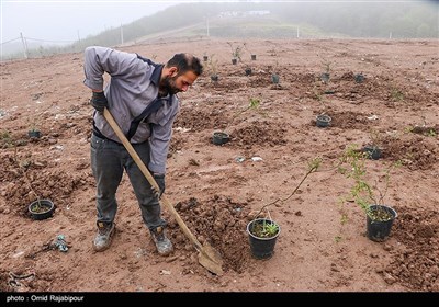
[[[1,60],[165,39],[439,38],[438,1],[1,2]]]

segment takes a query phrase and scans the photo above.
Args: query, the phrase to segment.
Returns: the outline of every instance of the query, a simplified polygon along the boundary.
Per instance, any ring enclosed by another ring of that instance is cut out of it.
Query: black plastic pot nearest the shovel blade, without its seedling
[[[275,225],[278,227],[278,231],[274,234],[274,236],[258,237],[254,234],[254,227],[263,224]],[[281,227],[271,219],[257,218],[247,224],[247,234],[252,257],[256,259],[271,258],[274,253],[274,246],[280,232],[281,232]]]

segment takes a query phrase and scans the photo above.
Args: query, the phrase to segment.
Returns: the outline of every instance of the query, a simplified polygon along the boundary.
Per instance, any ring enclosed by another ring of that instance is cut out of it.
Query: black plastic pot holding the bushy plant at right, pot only
[[[397,214],[392,207],[383,205],[371,205],[369,209],[372,213],[380,209],[390,214],[391,216],[389,220],[373,220],[369,214],[367,215],[365,225],[368,229],[368,238],[375,242],[383,242],[389,238],[393,221],[395,220]]]

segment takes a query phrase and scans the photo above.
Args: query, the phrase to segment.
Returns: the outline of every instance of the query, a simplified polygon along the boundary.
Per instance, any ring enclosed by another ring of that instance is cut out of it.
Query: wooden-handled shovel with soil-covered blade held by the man
[[[143,174],[146,177],[150,185],[156,190],[160,191],[157,182],[154,180],[154,177],[150,174],[149,170],[146,168],[145,163],[138,157],[136,150],[133,148],[131,143],[127,140],[121,128],[119,127],[117,123],[114,121],[113,115],[111,115],[110,111],[105,107],[103,111],[103,116],[105,117],[106,122],[109,122],[110,126],[113,128],[114,133],[117,135],[119,139],[124,145],[125,149],[128,151],[130,156],[136,162],[137,167],[140,169]],[[191,230],[189,230],[188,226],[181,219],[180,215],[172,206],[172,204],[168,201],[165,195],[161,195],[159,198],[160,203],[165,204],[168,211],[172,214],[176,218],[177,224],[180,226],[183,234],[188,237],[188,239],[193,243],[195,249],[199,252],[199,263],[207,269],[210,272],[222,275],[223,274],[223,259],[218,251],[216,251],[207,241],[204,241],[202,246],[200,241],[192,235]]]

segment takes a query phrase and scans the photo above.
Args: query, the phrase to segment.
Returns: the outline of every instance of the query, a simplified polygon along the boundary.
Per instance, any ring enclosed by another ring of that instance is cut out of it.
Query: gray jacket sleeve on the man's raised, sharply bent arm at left
[[[124,76],[138,65],[135,54],[106,47],[87,47],[85,50],[83,83],[92,90],[103,90],[103,75]]]

